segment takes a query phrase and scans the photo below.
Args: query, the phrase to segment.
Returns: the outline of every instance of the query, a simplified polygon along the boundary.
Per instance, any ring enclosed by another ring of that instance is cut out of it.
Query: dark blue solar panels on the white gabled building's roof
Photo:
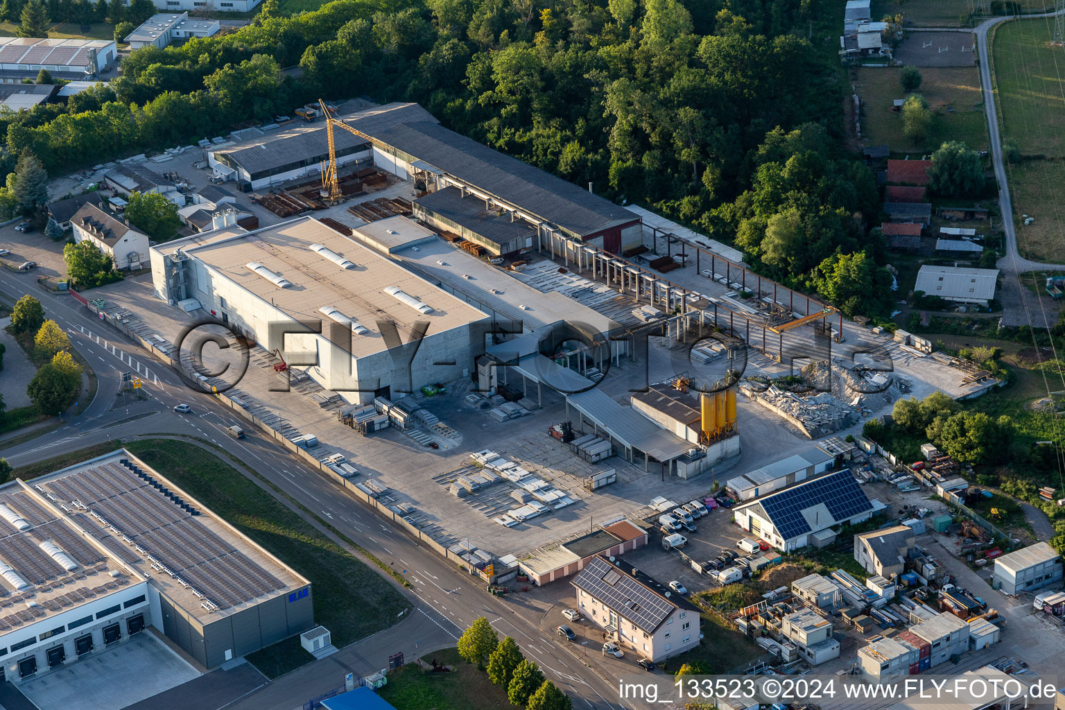
[[[808,483],[802,483],[771,495],[760,501],[770,522],[784,540],[812,532],[802,514],[807,508],[824,503],[833,521],[846,521],[872,509],[872,503],[849,470],[829,474]]]

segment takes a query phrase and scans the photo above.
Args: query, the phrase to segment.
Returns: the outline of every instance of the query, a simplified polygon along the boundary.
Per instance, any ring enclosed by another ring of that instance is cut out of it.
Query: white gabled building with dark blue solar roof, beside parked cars
[[[736,524],[790,552],[835,539],[832,528],[862,523],[878,508],[849,470],[799,483],[733,509]]]

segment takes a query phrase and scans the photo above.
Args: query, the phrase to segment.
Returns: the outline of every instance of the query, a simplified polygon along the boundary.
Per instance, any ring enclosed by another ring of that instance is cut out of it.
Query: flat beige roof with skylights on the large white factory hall
[[[394,320],[404,334],[410,333],[416,321],[428,320],[429,336],[486,317],[465,301],[310,217],[203,246],[187,246],[183,251],[293,318],[323,318],[320,309],[337,309],[368,330],[353,339],[351,354],[356,358],[388,349],[377,326],[379,319]],[[350,262],[350,267],[334,259]],[[325,325],[323,333],[328,333]]]

